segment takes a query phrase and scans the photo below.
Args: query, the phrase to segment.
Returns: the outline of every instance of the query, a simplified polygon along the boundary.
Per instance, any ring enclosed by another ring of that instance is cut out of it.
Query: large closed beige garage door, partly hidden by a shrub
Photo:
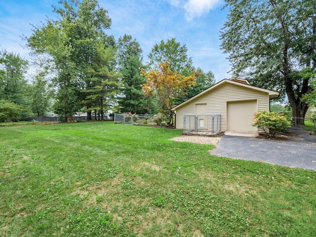
[[[257,112],[257,100],[227,102],[227,130],[258,131],[251,126],[254,113]]]

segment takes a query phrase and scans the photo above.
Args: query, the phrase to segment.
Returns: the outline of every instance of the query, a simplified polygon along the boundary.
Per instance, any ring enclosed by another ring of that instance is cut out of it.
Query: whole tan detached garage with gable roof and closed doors
[[[252,86],[245,79],[223,79],[172,111],[176,114],[176,128],[184,132],[258,132],[251,125],[254,113],[269,111],[270,100],[278,96],[279,92]]]

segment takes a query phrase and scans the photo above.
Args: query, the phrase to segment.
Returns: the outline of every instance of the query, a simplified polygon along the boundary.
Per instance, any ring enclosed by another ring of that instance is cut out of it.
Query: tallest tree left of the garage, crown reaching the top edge
[[[90,70],[97,65],[93,60],[98,58],[99,41],[104,42],[105,48],[115,45],[115,40],[105,33],[105,30],[110,29],[111,18],[108,11],[99,6],[97,0],[61,0],[60,3],[63,6],[54,7],[54,11],[61,16],[61,25],[68,37],[67,43],[73,48],[70,59],[78,70],[79,89],[83,92],[79,94],[79,100],[85,107],[87,120],[91,120],[92,104],[99,102],[92,101],[94,97],[89,94],[95,86],[90,78]],[[94,65],[91,66],[92,64]],[[85,100],[86,98],[89,99]]]

